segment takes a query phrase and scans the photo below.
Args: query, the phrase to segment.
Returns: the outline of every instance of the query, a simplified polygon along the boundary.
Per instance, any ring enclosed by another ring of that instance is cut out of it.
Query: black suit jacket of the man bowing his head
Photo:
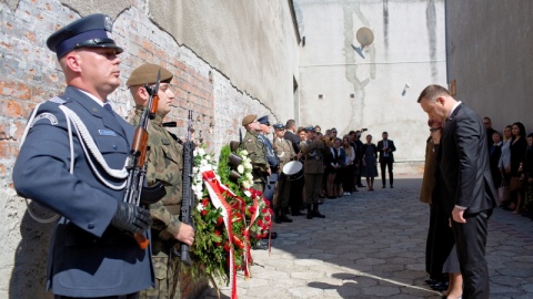
[[[446,121],[441,136],[438,161],[446,200],[446,213],[454,205],[474,214],[496,206],[486,146],[486,131],[481,117],[460,104]]]

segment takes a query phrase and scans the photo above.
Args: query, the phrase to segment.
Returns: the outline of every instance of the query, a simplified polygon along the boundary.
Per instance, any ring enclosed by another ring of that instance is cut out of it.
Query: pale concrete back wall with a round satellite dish
[[[444,1],[301,0],[301,6],[302,124],[336,127],[341,136],[368,127],[374,143],[388,131],[398,148],[396,173],[420,173],[429,131],[416,99],[428,84],[446,84]],[[361,47],[355,33],[362,27],[374,34],[364,58],[353,49]]]

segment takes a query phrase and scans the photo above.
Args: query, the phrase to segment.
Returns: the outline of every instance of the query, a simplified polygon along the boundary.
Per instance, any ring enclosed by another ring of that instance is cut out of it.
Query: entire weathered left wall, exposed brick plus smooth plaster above
[[[12,189],[11,171],[29,112],[64,89],[56,55],[46,48],[58,28],[90,13],[111,16],[113,38],[125,50],[122,82],[144,62],[173,72],[173,133],[184,136],[192,110],[195,138],[213,152],[238,138],[245,114],[292,117],[279,104],[292,103],[298,78],[291,1],[219,2],[0,1],[0,298],[50,298],[43,285],[51,226],[29,217]],[[130,99],[122,85],[109,100],[127,117]]]

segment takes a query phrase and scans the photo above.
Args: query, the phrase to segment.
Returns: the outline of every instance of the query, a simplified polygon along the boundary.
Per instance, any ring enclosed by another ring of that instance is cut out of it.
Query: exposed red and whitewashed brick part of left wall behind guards
[[[240,91],[231,79],[153,24],[143,1],[130,2],[131,7],[112,16],[113,38],[125,50],[121,54],[122,82],[144,62],[169,69],[174,74],[177,100],[167,121],[178,123],[171,130],[174,134],[185,136],[188,111],[192,110],[194,137],[218,154],[222,145],[238,140],[243,115],[272,117],[268,107]],[[76,11],[54,0],[0,2],[0,234],[4,236],[0,244],[0,275],[10,278],[1,280],[0,298],[51,298],[44,291],[44,274],[52,225],[29,217],[24,200],[12,189],[11,172],[30,111],[64,89],[64,78],[46,40],[58,28],[78,19]],[[101,7],[94,8],[97,11],[105,12]],[[124,117],[133,107],[124,84],[109,100]],[[205,283],[183,278],[183,297],[194,298]]]

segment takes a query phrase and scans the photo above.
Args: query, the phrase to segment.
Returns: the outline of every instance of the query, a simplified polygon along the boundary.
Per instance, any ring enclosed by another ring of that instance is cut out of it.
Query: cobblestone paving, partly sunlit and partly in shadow
[[[239,298],[440,298],[424,282],[429,206],[419,202],[420,185],[404,178],[393,189],[362,188],[326,199],[325,219],[275,225],[270,255],[254,250],[252,278],[239,275]],[[533,298],[532,220],[496,208],[486,256],[491,298]],[[201,298],[217,298],[215,289]]]

